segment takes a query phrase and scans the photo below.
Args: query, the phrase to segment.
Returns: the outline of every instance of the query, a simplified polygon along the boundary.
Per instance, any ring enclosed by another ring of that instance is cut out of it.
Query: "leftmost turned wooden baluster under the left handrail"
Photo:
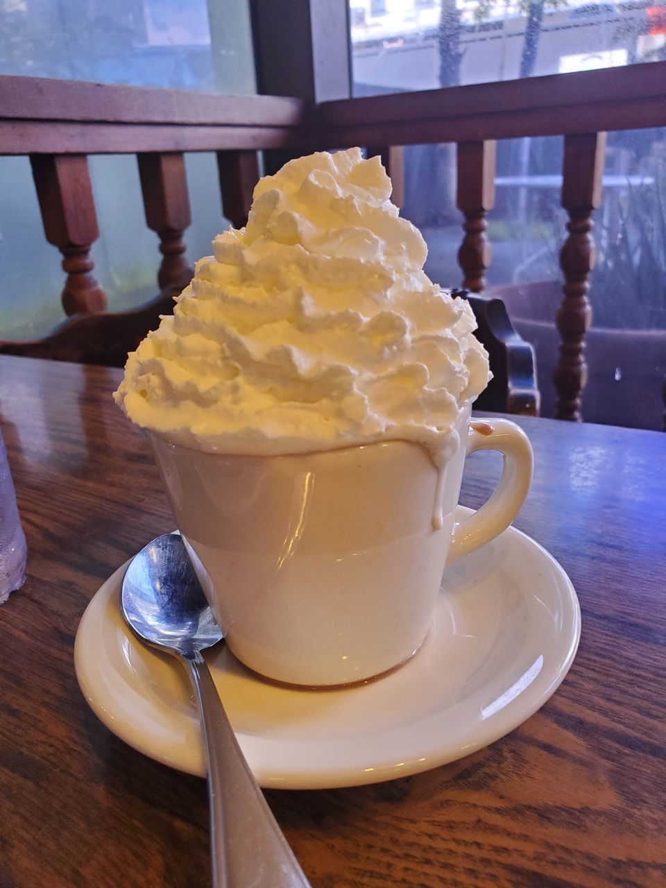
[[[99,237],[85,155],[30,155],[46,240],[63,255],[67,314],[101,312],[107,296],[92,274],[91,244]]]

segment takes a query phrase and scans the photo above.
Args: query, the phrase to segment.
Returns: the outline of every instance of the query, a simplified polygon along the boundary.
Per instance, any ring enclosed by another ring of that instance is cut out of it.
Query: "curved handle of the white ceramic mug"
[[[503,456],[502,474],[488,502],[469,518],[454,524],[447,565],[506,530],[525,502],[532,480],[532,445],[525,432],[508,419],[472,419],[467,454],[475,450],[499,450]]]

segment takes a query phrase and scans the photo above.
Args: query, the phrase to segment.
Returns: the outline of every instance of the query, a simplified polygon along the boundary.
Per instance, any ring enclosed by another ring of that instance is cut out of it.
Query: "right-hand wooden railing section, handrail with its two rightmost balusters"
[[[486,217],[495,202],[496,139],[564,135],[561,203],[568,234],[560,253],[561,345],[553,381],[556,415],[580,420],[592,215],[601,198],[606,132],[666,126],[666,62],[326,102],[319,122],[324,144],[385,146],[374,149],[385,156],[389,147],[457,143],[457,205],[465,232],[458,260],[464,286],[474,292],[484,289],[490,262]]]

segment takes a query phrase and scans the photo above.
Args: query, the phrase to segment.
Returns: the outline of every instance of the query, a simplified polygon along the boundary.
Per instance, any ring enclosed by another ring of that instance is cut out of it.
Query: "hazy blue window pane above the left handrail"
[[[0,0],[0,74],[254,91],[245,0]]]

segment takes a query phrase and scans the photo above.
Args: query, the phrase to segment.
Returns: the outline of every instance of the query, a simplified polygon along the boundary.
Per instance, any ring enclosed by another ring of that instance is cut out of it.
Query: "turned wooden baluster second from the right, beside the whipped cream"
[[[495,206],[496,142],[458,143],[457,207],[464,213],[463,243],[458,264],[463,269],[463,287],[480,293],[486,286],[490,244],[486,237],[486,215]]]

